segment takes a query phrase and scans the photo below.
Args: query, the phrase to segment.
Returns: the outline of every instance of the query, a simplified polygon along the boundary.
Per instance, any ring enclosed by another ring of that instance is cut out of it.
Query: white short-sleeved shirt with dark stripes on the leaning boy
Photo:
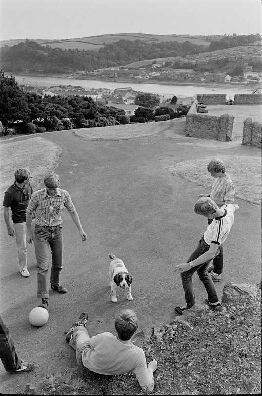
[[[221,206],[225,213],[213,219],[204,233],[204,240],[208,245],[216,243],[218,245],[226,241],[232,225],[234,224],[234,212],[236,210],[233,204]]]

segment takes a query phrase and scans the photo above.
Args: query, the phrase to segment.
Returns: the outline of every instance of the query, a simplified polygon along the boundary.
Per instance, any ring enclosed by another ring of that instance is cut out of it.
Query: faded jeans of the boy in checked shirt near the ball
[[[52,253],[51,285],[59,285],[59,273],[63,262],[62,226],[35,225],[35,255],[37,260],[37,296],[48,299],[49,247]]]

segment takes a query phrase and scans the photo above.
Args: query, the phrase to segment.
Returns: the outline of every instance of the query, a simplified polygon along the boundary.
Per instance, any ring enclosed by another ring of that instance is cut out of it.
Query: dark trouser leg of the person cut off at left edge
[[[9,328],[0,316],[0,358],[7,372],[13,372],[21,368],[21,359],[15,351],[14,342]]]

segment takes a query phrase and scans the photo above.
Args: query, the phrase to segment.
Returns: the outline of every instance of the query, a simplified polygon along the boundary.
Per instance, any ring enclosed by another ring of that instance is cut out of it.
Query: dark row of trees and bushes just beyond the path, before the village
[[[136,96],[133,121],[148,122],[156,115],[169,114],[170,118],[181,114],[168,107],[156,108],[159,96],[139,93]],[[177,97],[171,103],[176,104]],[[83,96],[46,95],[42,98],[35,92],[24,92],[14,77],[0,72],[0,133],[41,133],[74,128],[102,127],[128,124],[125,111],[113,106],[96,104],[92,98]]]

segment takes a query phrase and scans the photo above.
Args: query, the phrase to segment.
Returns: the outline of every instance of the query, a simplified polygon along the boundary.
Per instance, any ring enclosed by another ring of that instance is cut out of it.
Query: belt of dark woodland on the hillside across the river
[[[56,73],[70,70],[93,70],[111,66],[125,65],[145,59],[182,56],[206,51],[206,47],[189,41],[145,43],[140,40],[120,40],[106,44],[96,51],[62,50],[49,45],[41,46],[35,41],[26,40],[12,47],[0,49],[2,69],[21,72],[22,69],[43,70]]]

